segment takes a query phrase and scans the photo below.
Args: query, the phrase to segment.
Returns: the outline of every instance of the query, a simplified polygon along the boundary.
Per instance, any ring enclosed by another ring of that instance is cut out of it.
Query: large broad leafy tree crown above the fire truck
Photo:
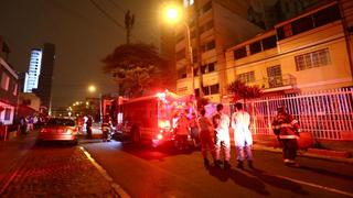
[[[103,70],[111,74],[120,94],[138,97],[163,84],[167,72],[153,45],[122,44],[103,59]],[[163,75],[165,78],[163,78]]]

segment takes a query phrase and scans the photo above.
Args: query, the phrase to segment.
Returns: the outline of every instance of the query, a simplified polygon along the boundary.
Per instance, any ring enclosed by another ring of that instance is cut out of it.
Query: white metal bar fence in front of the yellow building
[[[272,134],[271,121],[277,107],[286,106],[298,119],[302,131],[317,139],[346,140],[353,136],[353,88],[269,97],[246,103],[254,134]]]

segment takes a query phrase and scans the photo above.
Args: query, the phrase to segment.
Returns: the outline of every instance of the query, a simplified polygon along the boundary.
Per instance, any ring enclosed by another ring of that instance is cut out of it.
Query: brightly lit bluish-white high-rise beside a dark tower
[[[24,77],[23,92],[32,92],[38,88],[42,66],[42,50],[33,48],[31,51],[29,72]]]

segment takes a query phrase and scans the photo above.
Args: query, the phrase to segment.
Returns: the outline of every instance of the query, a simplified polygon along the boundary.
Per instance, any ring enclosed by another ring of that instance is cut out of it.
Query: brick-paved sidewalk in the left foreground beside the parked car
[[[36,133],[0,142],[0,197],[120,197],[79,146],[36,146]]]

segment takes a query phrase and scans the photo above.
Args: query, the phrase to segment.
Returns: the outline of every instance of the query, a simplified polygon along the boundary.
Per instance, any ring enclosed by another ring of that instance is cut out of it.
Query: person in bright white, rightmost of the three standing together
[[[248,166],[253,168],[253,135],[249,130],[250,116],[243,110],[243,103],[236,103],[235,110],[236,111],[232,114],[232,129],[234,131],[234,142],[237,151],[237,167],[244,168],[244,153],[246,153]]]

